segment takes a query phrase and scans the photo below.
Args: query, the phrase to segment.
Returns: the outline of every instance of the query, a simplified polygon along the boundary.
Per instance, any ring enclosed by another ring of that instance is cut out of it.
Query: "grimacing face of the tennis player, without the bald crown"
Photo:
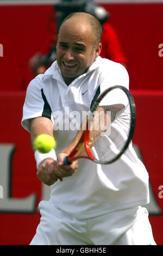
[[[96,57],[94,36],[87,23],[67,20],[60,28],[57,42],[57,63],[67,84],[84,74]]]

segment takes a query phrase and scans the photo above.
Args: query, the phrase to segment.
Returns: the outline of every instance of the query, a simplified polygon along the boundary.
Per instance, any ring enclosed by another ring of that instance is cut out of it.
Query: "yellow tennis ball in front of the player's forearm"
[[[34,139],[34,148],[40,153],[48,153],[55,148],[55,139],[47,134],[41,134]]]

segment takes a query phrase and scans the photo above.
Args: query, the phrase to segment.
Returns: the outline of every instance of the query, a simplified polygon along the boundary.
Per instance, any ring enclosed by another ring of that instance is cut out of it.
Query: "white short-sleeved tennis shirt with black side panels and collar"
[[[56,154],[59,154],[76,136],[76,113],[81,118],[84,111],[90,110],[95,95],[115,85],[129,88],[129,77],[121,64],[111,60],[98,57],[89,70],[69,86],[54,62],[45,74],[36,76],[29,83],[22,126],[30,132],[30,118],[51,119],[57,142]],[[110,103],[120,99],[121,96],[116,95]],[[148,173],[131,144],[114,163],[100,165],[80,159],[78,166],[72,176],[51,186],[51,200],[61,210],[77,218],[89,218],[149,203]]]

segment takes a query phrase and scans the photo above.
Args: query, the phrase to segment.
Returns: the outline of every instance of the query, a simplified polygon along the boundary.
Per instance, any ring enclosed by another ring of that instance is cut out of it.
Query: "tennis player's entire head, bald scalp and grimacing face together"
[[[73,13],[62,22],[57,40],[57,63],[67,85],[87,72],[101,53],[101,24],[86,13]]]

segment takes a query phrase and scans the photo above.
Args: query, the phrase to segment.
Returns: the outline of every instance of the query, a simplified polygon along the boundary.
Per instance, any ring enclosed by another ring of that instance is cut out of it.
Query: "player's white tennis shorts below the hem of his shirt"
[[[39,204],[41,219],[30,245],[156,245],[148,211],[141,206],[77,220],[50,201]]]

